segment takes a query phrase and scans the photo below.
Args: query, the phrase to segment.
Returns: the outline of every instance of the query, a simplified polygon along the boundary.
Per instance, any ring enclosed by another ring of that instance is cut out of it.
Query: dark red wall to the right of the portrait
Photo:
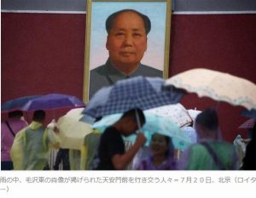
[[[256,83],[256,14],[174,15],[172,18],[170,75],[204,67],[247,78]],[[241,107],[195,94],[183,97],[187,109],[203,110],[218,105],[224,139],[232,141],[247,118]]]

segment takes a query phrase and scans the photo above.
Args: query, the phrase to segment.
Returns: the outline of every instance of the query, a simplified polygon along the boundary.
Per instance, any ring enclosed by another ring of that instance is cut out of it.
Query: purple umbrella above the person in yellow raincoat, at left
[[[30,99],[22,110],[53,110],[63,107],[81,107],[84,103],[73,95],[50,93],[36,99]]]

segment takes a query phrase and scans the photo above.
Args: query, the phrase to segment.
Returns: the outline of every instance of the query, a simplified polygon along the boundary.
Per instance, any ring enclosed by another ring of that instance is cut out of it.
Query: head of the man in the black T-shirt
[[[119,123],[121,124],[122,134],[125,136],[129,136],[132,133],[135,133],[139,128],[138,122],[140,126],[143,127],[146,122],[146,118],[143,114],[143,110],[141,109],[131,109],[127,110],[123,116],[119,119]]]

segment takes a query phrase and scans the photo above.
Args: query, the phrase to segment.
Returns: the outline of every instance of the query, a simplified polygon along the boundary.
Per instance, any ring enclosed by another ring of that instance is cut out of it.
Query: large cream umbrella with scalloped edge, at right
[[[247,79],[207,69],[184,71],[166,80],[166,85],[183,88],[199,97],[207,96],[230,105],[256,109],[256,85]]]

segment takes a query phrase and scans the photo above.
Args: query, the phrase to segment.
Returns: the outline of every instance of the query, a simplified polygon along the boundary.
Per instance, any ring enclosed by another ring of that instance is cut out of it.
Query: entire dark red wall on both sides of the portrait
[[[84,14],[2,13],[1,103],[45,93],[83,96]],[[170,76],[205,67],[255,79],[256,14],[173,15]],[[215,107],[212,99],[183,97],[185,107]],[[224,139],[232,141],[247,120],[243,108],[218,105]]]

